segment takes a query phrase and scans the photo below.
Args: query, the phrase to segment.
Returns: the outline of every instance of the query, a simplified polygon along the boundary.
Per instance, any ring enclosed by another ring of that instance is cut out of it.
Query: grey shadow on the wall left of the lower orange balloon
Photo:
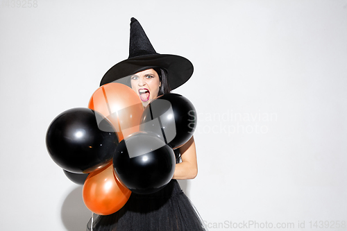
[[[65,228],[69,231],[86,230],[92,216],[92,212],[83,203],[82,189],[82,186],[76,187],[62,203],[60,216]]]

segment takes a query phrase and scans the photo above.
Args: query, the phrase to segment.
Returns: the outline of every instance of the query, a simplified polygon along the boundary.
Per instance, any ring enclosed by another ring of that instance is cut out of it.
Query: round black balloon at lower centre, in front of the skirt
[[[136,132],[122,140],[113,155],[115,174],[137,194],[162,189],[174,176],[174,150],[151,132]]]

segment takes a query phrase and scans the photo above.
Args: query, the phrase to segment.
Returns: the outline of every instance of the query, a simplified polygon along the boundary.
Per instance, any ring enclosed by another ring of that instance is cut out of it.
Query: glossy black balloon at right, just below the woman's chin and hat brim
[[[156,132],[176,149],[187,143],[196,129],[194,105],[180,94],[164,94],[146,106],[140,130]]]

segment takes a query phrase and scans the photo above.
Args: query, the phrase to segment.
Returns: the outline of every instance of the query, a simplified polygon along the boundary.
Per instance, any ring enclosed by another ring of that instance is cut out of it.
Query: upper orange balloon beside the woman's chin
[[[119,141],[139,131],[142,102],[133,89],[124,84],[108,83],[99,87],[92,95],[88,108],[100,112],[111,121]]]

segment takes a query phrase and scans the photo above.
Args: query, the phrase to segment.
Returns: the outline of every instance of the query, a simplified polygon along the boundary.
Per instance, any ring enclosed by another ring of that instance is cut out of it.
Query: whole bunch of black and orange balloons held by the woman
[[[165,94],[145,109],[126,85],[96,89],[88,108],[59,114],[46,133],[49,155],[67,178],[83,185],[83,201],[100,215],[117,212],[131,192],[151,194],[171,180],[173,149],[196,128],[192,103]]]

